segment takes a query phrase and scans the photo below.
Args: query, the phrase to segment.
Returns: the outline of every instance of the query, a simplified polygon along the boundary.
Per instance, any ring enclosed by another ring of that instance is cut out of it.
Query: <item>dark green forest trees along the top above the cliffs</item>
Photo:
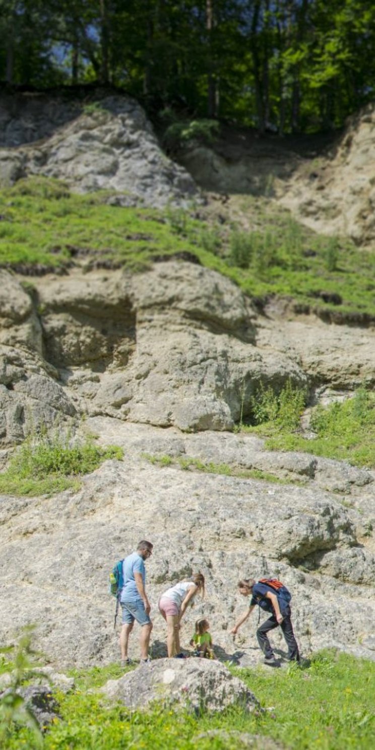
[[[374,99],[373,0],[0,0],[0,79],[100,83],[148,111],[278,133]]]

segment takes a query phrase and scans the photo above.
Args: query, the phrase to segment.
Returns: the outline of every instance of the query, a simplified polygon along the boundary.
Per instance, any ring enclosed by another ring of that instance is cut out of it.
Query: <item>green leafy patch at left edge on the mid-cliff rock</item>
[[[77,488],[77,478],[94,471],[108,458],[121,460],[122,455],[121,448],[101,448],[90,437],[79,442],[57,430],[31,434],[0,474],[0,491],[36,495]]]

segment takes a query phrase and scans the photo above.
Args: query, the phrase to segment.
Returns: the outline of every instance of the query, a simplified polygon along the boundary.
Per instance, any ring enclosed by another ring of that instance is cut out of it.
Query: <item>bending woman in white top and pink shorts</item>
[[[190,580],[181,580],[165,591],[159,599],[159,610],[166,621],[166,646],[168,656],[184,658],[180,652],[180,623],[194,596],[205,595],[205,577],[195,573]]]

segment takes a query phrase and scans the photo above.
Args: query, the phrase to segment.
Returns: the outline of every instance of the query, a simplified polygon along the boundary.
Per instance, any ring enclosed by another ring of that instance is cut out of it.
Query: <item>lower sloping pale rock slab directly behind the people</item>
[[[86,476],[79,492],[53,497],[1,498],[0,641],[9,643],[26,622],[37,623],[37,645],[59,669],[106,664],[118,658],[115,600],[108,575],[141,538],[154,543],[147,563],[154,619],[151,652],[166,655],[160,594],[200,570],[205,599],[189,609],[181,630],[186,649],[194,622],[206,616],[218,658],[257,664],[257,613],[236,636],[229,630],[246,608],[240,577],[281,578],[293,593],[292,610],[302,653],[338,646],[375,658],[374,481],[352,484],[350,494],[305,484],[158,466],[145,458],[210,455],[236,467],[236,454],[260,455],[254,438],[236,434],[181,434],[176,428],[90,418],[85,429],[100,443],[117,443],[124,460],[109,460]],[[205,453],[204,453],[205,451]],[[232,460],[230,460],[232,452]],[[279,460],[280,454],[275,454]],[[338,467],[340,462],[338,463]],[[270,468],[270,467],[269,467]],[[366,526],[367,523],[367,526]],[[52,572],[51,572],[52,571]],[[7,603],[17,580],[17,607]],[[93,601],[95,605],[93,606]],[[272,633],[278,655],[285,644]],[[130,656],[138,658],[137,637]]]

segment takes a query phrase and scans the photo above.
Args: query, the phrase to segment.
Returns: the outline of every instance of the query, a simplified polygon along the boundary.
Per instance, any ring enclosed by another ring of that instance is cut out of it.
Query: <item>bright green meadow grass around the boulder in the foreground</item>
[[[58,695],[61,718],[43,739],[46,750],[235,750],[240,745],[225,733],[233,730],[281,742],[290,750],[369,750],[375,743],[375,663],[327,650],[317,653],[310,666],[290,665],[282,670],[233,669],[260,700],[262,712],[240,708],[220,714],[175,715],[155,706],[148,712],[130,712],[110,706],[98,688],[116,679],[115,665],[74,670],[76,689]],[[124,672],[122,672],[124,673]],[[216,738],[200,737],[220,730]],[[11,727],[5,750],[33,748],[28,728]]]

